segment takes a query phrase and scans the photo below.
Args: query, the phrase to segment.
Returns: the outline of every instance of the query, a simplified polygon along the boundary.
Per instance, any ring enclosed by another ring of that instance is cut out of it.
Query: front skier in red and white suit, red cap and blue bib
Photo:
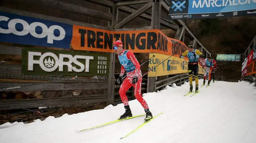
[[[123,42],[117,40],[113,44],[113,49],[115,50],[116,54],[118,55],[119,62],[121,64],[121,73],[119,75],[119,78],[117,79],[117,83],[120,84],[121,80],[123,78],[123,74],[126,71],[127,76],[124,79],[120,89],[119,89],[119,95],[120,98],[124,104],[125,113],[120,116],[120,118],[125,117],[131,117],[132,112],[128,103],[128,99],[126,97],[126,91],[133,86],[134,87],[134,96],[135,98],[140,102],[140,104],[143,106],[146,118],[145,121],[148,121],[149,119],[153,118],[153,115],[149,111],[149,107],[147,102],[142,98],[141,96],[141,81],[142,81],[142,74],[140,71],[140,64],[135,58],[135,55],[133,52],[129,50],[123,49]]]

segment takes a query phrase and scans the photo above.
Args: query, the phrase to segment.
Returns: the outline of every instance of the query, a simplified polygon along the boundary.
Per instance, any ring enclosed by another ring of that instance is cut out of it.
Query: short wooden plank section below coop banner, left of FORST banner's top
[[[21,55],[22,47],[0,45],[0,54]]]

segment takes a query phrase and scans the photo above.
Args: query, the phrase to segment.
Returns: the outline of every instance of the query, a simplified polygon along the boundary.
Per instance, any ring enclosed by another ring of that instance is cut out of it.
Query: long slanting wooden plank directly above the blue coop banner
[[[12,9],[12,8],[6,8],[6,7],[2,7],[2,6],[0,6],[0,11],[12,13],[12,14],[17,14],[17,15],[33,17],[33,18],[44,19],[44,20],[50,20],[50,21],[55,21],[55,22],[61,22],[61,23],[69,24],[69,25],[79,25],[79,26],[99,28],[99,29],[104,29],[104,30],[110,30],[111,31],[110,27],[100,26],[100,25],[96,25],[96,24],[89,24],[89,23],[84,23],[84,22],[76,22],[76,21],[73,21],[73,20],[70,20],[70,19],[53,17],[53,16],[48,16],[48,15],[42,15],[42,14],[33,13],[33,12],[25,12],[25,11],[16,10],[16,9]]]

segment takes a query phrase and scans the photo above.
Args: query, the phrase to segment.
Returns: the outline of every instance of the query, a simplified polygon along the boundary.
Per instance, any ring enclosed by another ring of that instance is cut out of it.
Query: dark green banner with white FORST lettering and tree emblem
[[[23,75],[106,76],[109,55],[45,48],[22,49]]]

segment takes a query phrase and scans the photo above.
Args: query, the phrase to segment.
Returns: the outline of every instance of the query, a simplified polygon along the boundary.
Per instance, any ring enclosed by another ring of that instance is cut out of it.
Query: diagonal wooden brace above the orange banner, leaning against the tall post
[[[149,8],[152,7],[152,2],[148,2],[147,4],[143,5],[141,8],[130,14],[128,17],[124,18],[121,22],[117,23],[114,28],[120,28],[123,27],[126,23],[130,22],[137,16],[141,15],[145,11],[147,11]]]

